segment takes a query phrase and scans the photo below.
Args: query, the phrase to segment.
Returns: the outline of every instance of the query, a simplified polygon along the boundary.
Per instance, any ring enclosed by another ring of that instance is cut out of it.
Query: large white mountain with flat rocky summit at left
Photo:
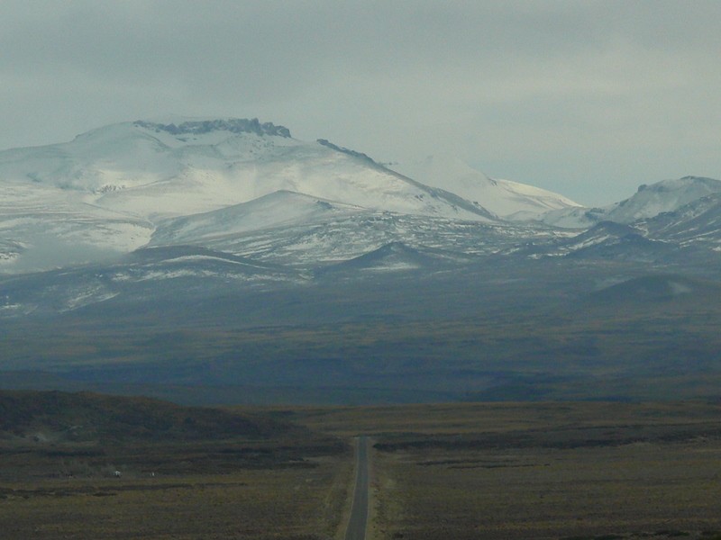
[[[282,126],[239,119],[166,122],[124,122],[68,143],[0,152],[2,270],[39,270],[70,264],[73,257],[86,262],[127,253],[148,244],[164,220],[275,193],[295,193],[296,200],[284,205],[280,194],[273,208],[264,200],[254,211],[252,205],[238,209],[245,215],[242,228],[263,229],[289,215],[315,220],[317,212],[300,215],[303,196],[339,208],[495,220],[479,204],[328,141],[293,139]],[[216,216],[219,233],[233,212]]]

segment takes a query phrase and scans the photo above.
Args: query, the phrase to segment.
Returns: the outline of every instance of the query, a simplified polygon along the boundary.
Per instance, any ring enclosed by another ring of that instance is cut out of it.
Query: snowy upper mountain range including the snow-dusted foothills
[[[589,209],[454,160],[393,169],[241,119],[124,122],[0,152],[0,273],[68,270],[33,278],[30,296],[17,287],[31,282],[15,281],[5,306],[40,302],[45,286],[68,309],[181,279],[272,288],[446,273],[483,257],[665,264],[691,244],[712,257],[721,246],[721,182],[708,178]]]

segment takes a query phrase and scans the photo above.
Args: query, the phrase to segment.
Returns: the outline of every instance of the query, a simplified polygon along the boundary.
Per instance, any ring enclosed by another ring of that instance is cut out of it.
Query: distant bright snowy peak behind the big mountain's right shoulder
[[[533,220],[546,211],[580,207],[577,202],[558,193],[533,185],[489,178],[459,159],[431,156],[419,163],[393,168],[424,184],[478,202],[507,220]]]

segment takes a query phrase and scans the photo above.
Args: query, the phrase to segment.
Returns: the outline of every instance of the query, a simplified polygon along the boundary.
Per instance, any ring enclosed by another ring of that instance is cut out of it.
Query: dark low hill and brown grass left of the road
[[[5,393],[0,538],[333,538],[352,463],[341,440],[262,415]]]

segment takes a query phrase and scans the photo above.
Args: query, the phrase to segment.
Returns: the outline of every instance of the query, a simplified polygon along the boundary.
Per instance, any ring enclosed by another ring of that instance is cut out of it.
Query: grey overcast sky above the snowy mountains
[[[605,204],[721,178],[721,1],[4,0],[0,148],[169,113]]]

